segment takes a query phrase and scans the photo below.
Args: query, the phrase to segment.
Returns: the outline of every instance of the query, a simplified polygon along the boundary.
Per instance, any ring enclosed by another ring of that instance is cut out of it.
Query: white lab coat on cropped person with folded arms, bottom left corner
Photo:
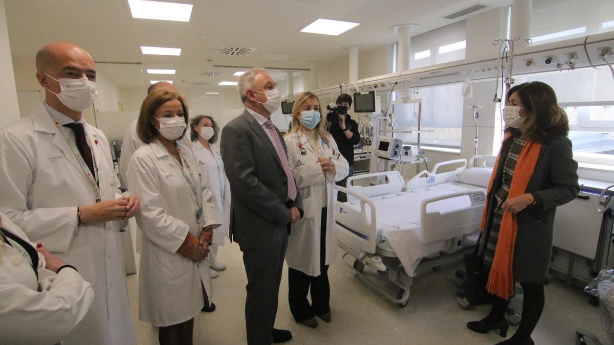
[[[29,242],[6,215],[0,218],[2,228]],[[31,249],[36,252],[34,244]],[[45,269],[41,254],[37,277],[28,260],[12,262],[20,256],[14,247],[0,244],[0,344],[56,344],[85,317],[94,291],[74,269],[58,274]]]

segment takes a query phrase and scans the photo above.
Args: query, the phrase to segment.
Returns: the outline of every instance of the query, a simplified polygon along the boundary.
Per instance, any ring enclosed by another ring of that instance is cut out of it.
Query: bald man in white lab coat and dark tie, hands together
[[[139,208],[119,195],[109,142],[82,110],[98,95],[91,56],[69,43],[36,55],[45,102],[0,130],[0,211],[92,285],[95,301],[64,344],[136,344],[120,222]]]

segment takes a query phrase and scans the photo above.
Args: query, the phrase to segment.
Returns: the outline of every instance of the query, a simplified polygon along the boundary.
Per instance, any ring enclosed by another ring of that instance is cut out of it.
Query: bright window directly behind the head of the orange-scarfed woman
[[[569,117],[569,139],[580,163],[614,165],[614,79],[609,69],[577,69],[516,78],[540,81],[556,92]]]

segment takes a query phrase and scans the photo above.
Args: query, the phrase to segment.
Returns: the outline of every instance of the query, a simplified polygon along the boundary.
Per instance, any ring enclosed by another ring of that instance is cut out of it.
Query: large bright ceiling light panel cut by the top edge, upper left
[[[192,5],[174,2],[128,0],[133,18],[190,21]]]

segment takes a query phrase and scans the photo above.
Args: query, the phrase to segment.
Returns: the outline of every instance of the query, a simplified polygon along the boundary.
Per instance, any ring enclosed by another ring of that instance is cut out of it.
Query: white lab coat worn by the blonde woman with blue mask
[[[328,193],[328,212],[326,220],[326,260],[330,263],[335,258],[336,231],[335,212],[332,212],[337,200],[336,181],[343,180],[348,176],[348,161],[340,154],[335,140],[328,134],[328,143],[320,139],[325,155],[328,155],[335,163],[335,174],[324,174],[317,163],[316,150],[311,147],[305,134],[291,133],[284,139],[288,147],[288,160],[292,166],[294,179],[297,181],[298,190],[303,198],[303,218],[292,225],[288,249],[286,251],[286,263],[290,268],[297,269],[309,276],[320,275],[320,235],[322,219],[322,184],[326,181]],[[297,139],[305,147],[305,155],[301,155]]]

